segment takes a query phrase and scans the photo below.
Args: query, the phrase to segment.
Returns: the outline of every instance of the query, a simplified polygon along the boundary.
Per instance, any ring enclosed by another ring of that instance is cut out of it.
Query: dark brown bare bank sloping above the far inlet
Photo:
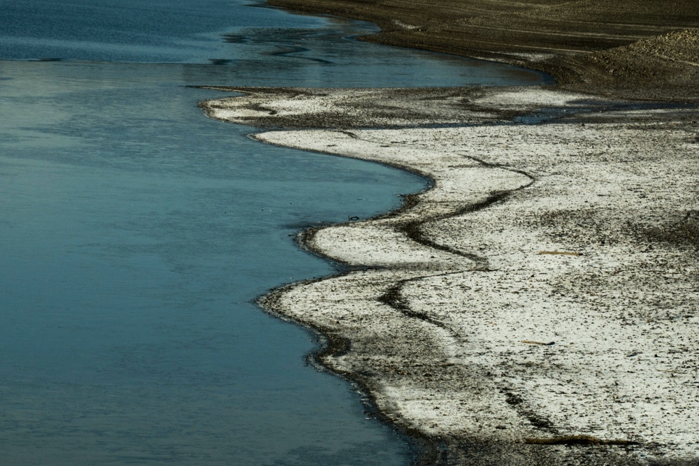
[[[694,0],[268,3],[375,22],[382,32],[363,40],[505,61],[551,73],[563,88],[577,92],[699,99],[699,8]]]

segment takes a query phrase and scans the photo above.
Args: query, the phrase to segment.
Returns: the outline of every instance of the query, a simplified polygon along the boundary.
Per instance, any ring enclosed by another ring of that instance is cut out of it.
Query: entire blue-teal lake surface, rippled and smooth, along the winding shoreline
[[[535,84],[242,1],[0,1],[0,452],[7,465],[408,465],[410,442],[254,304],[336,272],[303,226],[426,181],[203,117],[188,85]]]

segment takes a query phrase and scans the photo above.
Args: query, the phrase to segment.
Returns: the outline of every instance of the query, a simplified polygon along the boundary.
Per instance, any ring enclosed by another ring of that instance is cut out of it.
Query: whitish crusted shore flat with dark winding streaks
[[[424,464],[698,463],[695,108],[536,87],[228,90],[248,95],[202,103],[210,117],[312,128],[258,140],[434,180],[307,235],[357,269],[264,301],[346,343],[319,362],[427,439]]]

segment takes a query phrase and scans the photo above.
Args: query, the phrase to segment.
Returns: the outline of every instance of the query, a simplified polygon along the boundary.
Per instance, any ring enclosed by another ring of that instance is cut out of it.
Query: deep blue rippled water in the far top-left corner
[[[206,63],[231,51],[220,40],[222,32],[325,26],[318,17],[252,8],[246,3],[0,0],[0,57]]]

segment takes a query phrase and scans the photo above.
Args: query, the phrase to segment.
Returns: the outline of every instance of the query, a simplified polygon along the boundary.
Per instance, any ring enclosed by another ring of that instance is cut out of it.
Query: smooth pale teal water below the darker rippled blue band
[[[421,180],[255,143],[161,75],[1,68],[6,464],[405,463],[305,365],[312,335],[252,300],[333,271],[298,252],[299,224],[381,212]]]

